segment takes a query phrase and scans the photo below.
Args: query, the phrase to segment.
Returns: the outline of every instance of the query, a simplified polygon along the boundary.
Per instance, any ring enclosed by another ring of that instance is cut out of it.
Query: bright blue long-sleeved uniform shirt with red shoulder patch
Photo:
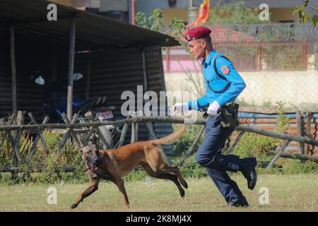
[[[234,69],[231,61],[225,59],[223,54],[216,52],[214,49],[208,53],[208,57],[202,61],[202,66],[204,68],[204,83],[206,85],[206,94],[197,100],[192,100],[188,102],[189,109],[202,110],[206,109],[209,104],[214,100],[218,102],[220,106],[225,105],[227,102],[232,102],[236,97],[245,89],[246,84],[239,73]],[[214,71],[214,61],[216,61],[216,68],[218,73],[223,75],[228,79],[226,81],[220,78]],[[225,88],[226,84],[229,82],[228,88],[220,93],[213,92],[208,88],[208,82],[213,90],[222,90]]]

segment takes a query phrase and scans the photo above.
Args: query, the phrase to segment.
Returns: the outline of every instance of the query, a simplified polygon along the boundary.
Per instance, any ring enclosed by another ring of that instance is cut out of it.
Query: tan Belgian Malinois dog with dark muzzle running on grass
[[[85,146],[82,158],[86,162],[89,185],[85,191],[78,195],[71,208],[76,208],[84,198],[97,191],[100,179],[106,179],[118,186],[124,208],[128,209],[129,201],[122,177],[137,166],[141,166],[151,177],[169,179],[174,182],[183,198],[184,189],[182,186],[187,189],[187,182],[182,178],[178,167],[167,165],[163,157],[163,150],[158,148],[158,145],[172,143],[185,131],[186,125],[169,136],[157,140],[139,141],[116,149],[95,150],[95,148]]]

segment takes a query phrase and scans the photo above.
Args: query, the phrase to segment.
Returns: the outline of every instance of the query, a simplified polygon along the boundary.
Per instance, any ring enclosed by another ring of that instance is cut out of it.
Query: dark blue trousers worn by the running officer
[[[230,179],[226,171],[237,172],[240,157],[237,155],[222,155],[225,141],[233,129],[224,128],[220,124],[220,114],[208,116],[204,141],[196,152],[196,161],[207,168],[214,184],[229,203],[234,198],[245,199],[237,184]]]

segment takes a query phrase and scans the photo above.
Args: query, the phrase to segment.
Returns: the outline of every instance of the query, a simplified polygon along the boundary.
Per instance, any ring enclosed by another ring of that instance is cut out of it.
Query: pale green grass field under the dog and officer
[[[216,186],[208,177],[187,179],[189,189],[180,198],[172,182],[158,179],[146,182],[126,182],[131,209],[129,211],[318,211],[318,175],[261,174],[253,191],[247,189],[242,174],[232,176],[249,201],[249,208],[229,208]],[[57,189],[57,204],[47,204],[47,189]],[[86,184],[0,184],[1,211],[124,211],[119,192],[114,184],[100,183],[93,195],[70,210],[76,196]],[[259,189],[269,189],[269,204],[259,203]]]

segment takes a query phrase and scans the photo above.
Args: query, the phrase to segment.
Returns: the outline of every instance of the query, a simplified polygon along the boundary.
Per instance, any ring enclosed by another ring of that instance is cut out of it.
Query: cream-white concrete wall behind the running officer
[[[283,101],[289,106],[318,110],[318,71],[240,71],[239,73],[247,83],[247,88],[240,94],[239,100],[254,105],[264,105],[266,102],[274,105],[275,102]],[[202,76],[202,73],[199,73],[199,76]],[[194,87],[187,81],[185,73],[165,73],[165,83],[169,91],[191,90]]]

